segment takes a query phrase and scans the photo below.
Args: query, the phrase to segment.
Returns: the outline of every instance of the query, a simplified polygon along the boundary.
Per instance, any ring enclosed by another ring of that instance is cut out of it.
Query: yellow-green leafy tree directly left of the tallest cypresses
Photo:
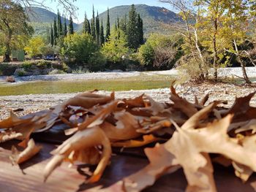
[[[122,61],[122,59],[129,53],[129,47],[127,47],[127,37],[124,31],[117,29],[112,31],[108,42],[102,47],[102,53],[108,59],[114,63]]]

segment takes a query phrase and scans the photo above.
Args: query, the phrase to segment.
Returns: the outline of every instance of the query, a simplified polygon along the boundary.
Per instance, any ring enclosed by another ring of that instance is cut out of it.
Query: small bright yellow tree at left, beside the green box
[[[37,55],[42,54],[41,49],[44,46],[45,42],[42,37],[33,37],[29,40],[29,44],[24,48],[24,50],[31,58],[35,58]]]

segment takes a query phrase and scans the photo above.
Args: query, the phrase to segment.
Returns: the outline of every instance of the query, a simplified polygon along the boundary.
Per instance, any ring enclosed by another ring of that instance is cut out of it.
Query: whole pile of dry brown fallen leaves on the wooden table
[[[95,183],[110,163],[113,147],[143,147],[148,166],[118,183],[97,191],[142,191],[164,174],[182,168],[187,177],[187,191],[217,191],[212,163],[233,166],[235,174],[246,182],[256,172],[256,108],[249,101],[251,93],[237,98],[230,108],[225,101],[206,105],[195,97],[190,103],[170,88],[170,102],[160,103],[150,96],[115,99],[114,93],[102,96],[81,93],[63,105],[40,115],[0,121],[0,142],[19,139],[23,151],[12,147],[13,164],[20,164],[39,153],[32,133],[48,131],[56,123],[69,126],[69,139],[53,150],[45,166],[47,180],[63,162],[75,161],[97,165],[87,182]],[[214,154],[214,155],[213,155]]]

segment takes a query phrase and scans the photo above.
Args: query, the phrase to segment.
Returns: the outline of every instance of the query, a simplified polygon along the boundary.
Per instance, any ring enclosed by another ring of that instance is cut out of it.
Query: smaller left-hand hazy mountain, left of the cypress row
[[[54,18],[57,19],[57,15],[54,12],[50,12],[47,9],[40,7],[30,7],[26,9],[26,13],[29,16],[29,21],[31,26],[34,27],[35,35],[46,34],[47,26],[53,23]],[[64,23],[65,18],[61,17],[62,23]],[[67,20],[67,24],[69,20]],[[79,25],[74,23],[75,30],[78,30]]]

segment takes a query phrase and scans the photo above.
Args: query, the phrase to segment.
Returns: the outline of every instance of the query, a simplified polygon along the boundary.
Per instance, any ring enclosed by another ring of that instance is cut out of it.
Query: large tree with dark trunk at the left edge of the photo
[[[31,36],[33,28],[29,26],[23,7],[10,0],[0,1],[0,33],[5,47],[4,61],[10,61],[12,45],[19,36]]]

